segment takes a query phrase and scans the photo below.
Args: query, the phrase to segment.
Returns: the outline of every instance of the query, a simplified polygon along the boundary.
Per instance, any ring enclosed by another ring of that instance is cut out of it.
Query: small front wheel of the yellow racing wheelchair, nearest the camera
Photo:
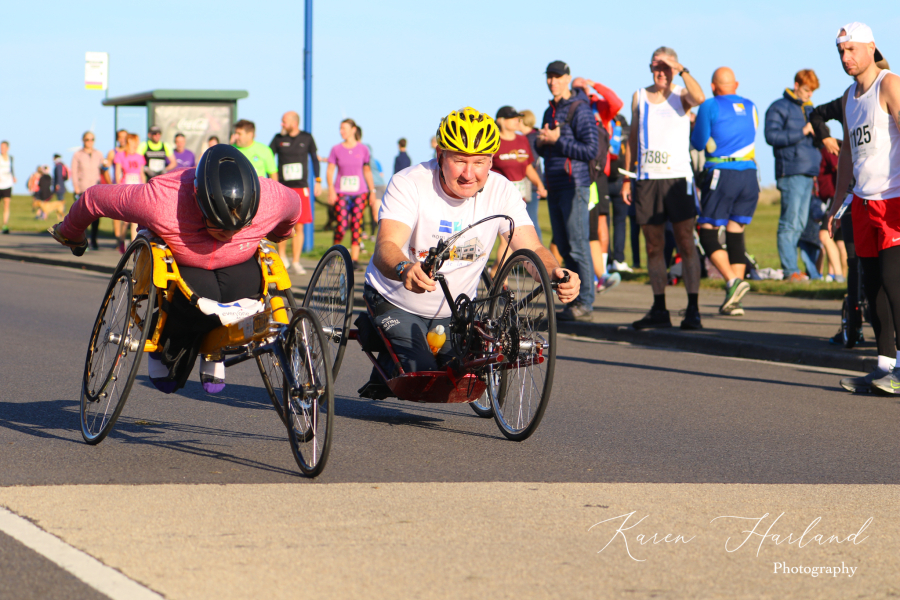
[[[312,311],[300,308],[291,319],[284,350],[297,383],[284,386],[285,422],[294,460],[304,475],[315,477],[325,468],[334,421],[334,379],[322,325]]]

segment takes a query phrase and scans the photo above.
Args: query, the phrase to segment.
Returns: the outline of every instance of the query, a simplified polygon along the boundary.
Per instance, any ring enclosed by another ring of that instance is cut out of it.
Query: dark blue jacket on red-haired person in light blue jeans
[[[784,97],[766,111],[766,142],[775,152],[776,179],[819,174],[822,154],[813,145],[813,136],[803,135],[812,110],[811,102],[804,104],[792,90],[784,90]]]

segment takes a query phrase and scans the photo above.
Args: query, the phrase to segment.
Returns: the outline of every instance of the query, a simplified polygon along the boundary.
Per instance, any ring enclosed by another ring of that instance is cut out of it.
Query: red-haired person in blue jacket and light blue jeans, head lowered
[[[766,111],[766,142],[775,153],[775,181],[781,192],[778,255],[784,278],[790,281],[808,279],[797,267],[797,242],[809,219],[813,179],[822,161],[809,122],[812,95],[818,87],[819,78],[812,69],[798,71],[794,89],[785,89],[784,96]]]

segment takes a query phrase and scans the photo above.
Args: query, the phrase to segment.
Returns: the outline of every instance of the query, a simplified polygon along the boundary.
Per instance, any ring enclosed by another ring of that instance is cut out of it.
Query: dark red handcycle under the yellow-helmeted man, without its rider
[[[353,314],[353,270],[347,250],[333,246],[316,266],[303,306],[319,315],[337,379],[348,340],[356,340],[390,389],[392,397],[412,402],[469,403],[481,417],[493,417],[507,438],[522,441],[536,430],[547,408],[556,365],[556,314],[551,282],[543,263],[531,250],[520,249],[506,259],[492,282],[482,273],[475,298],[453,298],[440,273],[447,260],[465,250],[455,242],[473,227],[506,215],[486,217],[441,239],[429,249],[424,268],[433,273],[450,309],[448,339],[457,360],[437,371],[406,372],[391,342],[372,322],[366,303],[350,329]],[[568,274],[562,281],[568,280]],[[391,357],[393,372],[386,372],[376,352]]]

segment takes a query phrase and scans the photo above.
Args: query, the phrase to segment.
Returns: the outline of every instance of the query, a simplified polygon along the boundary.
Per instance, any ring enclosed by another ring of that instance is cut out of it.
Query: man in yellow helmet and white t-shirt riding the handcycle
[[[437,141],[436,158],[394,174],[388,184],[363,292],[375,313],[375,325],[390,340],[407,372],[436,370],[439,361],[451,358],[449,342],[435,357],[425,339],[433,327],[450,323],[450,306],[420,262],[438,240],[484,217],[509,215],[516,224],[511,252],[533,250],[554,280],[569,274],[569,281],[557,290],[560,301],[574,300],[581,284],[575,272],[560,268],[541,245],[518,189],[499,173],[491,173],[492,155],[500,145],[491,117],[473,108],[453,111],[441,121]],[[456,258],[444,262],[440,270],[454,297],[462,293],[475,297],[497,235],[508,231],[505,219],[494,219],[458,240]],[[373,371],[359,393],[383,398],[385,390]]]

